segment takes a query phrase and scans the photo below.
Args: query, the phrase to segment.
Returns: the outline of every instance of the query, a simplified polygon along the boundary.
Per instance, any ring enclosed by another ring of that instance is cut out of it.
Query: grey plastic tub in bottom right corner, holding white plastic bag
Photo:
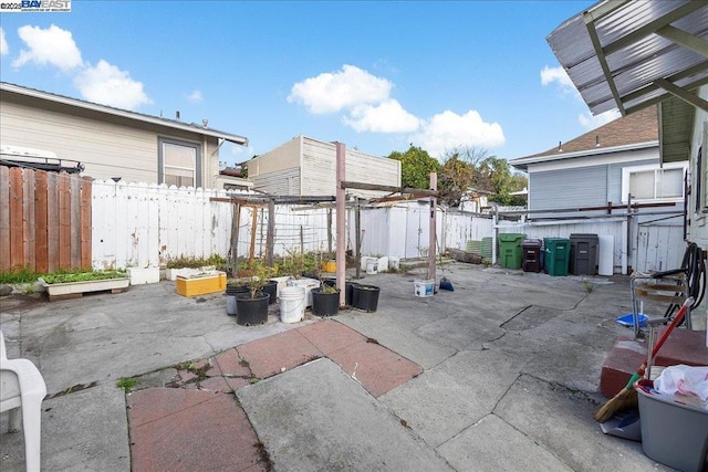
[[[677,403],[653,390],[652,380],[638,380],[642,449],[653,460],[680,471],[700,472],[708,454],[708,410]]]

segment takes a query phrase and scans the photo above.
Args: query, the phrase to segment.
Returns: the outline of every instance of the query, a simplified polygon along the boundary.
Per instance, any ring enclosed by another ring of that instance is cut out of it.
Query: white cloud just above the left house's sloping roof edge
[[[95,103],[134,109],[152,103],[143,91],[143,83],[131,78],[131,74],[101,60],[95,67],[85,67],[74,78],[81,95]]]

